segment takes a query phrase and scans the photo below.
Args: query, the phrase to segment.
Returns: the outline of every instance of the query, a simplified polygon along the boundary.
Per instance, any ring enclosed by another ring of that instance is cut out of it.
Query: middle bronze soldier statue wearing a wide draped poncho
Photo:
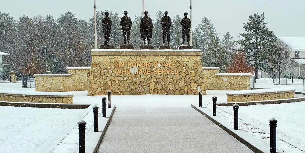
[[[141,23],[140,23],[140,34],[141,38],[143,38],[144,45],[146,44],[146,37],[147,37],[147,42],[149,45],[150,38],[152,38],[152,19],[147,16],[148,12],[144,12],[145,16],[142,18]]]

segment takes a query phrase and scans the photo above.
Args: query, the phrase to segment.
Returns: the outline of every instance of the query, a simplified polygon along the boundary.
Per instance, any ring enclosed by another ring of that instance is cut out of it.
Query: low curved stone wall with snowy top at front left
[[[0,90],[0,101],[72,104],[72,93]]]

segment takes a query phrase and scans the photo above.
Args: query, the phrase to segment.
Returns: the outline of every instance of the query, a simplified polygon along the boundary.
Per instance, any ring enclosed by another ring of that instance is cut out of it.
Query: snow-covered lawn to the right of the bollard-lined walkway
[[[233,107],[217,106],[233,115]],[[295,103],[240,106],[239,118],[269,131],[268,120],[274,117],[278,120],[277,135],[284,137],[305,148],[305,101]],[[233,121],[233,118],[231,119]]]

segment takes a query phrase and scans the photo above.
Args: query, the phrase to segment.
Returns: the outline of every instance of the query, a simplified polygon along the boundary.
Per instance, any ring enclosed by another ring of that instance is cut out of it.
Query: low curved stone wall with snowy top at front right
[[[295,88],[284,87],[274,89],[258,89],[245,91],[229,91],[226,93],[227,102],[262,101],[294,98]]]

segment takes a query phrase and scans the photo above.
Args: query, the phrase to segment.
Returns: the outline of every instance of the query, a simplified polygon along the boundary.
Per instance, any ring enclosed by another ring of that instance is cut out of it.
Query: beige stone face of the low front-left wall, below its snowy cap
[[[35,92],[35,91],[33,91]],[[22,92],[21,92],[22,93]],[[74,95],[29,95],[0,93],[0,101],[72,104]]]

